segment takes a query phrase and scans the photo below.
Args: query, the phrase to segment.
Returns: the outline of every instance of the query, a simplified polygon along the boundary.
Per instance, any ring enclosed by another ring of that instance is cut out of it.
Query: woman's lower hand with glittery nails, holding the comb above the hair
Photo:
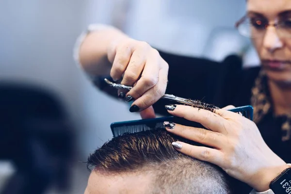
[[[173,143],[178,151],[220,166],[228,175],[258,192],[268,190],[270,182],[289,167],[266,145],[256,124],[238,113],[224,109],[212,113],[184,105],[166,105],[166,109],[206,128],[172,124],[166,125],[169,132],[213,147]]]

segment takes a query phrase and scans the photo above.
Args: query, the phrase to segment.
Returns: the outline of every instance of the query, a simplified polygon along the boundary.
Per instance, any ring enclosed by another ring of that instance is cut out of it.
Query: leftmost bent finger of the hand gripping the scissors
[[[110,76],[113,80],[119,80],[122,77],[122,74],[125,72],[130,57],[133,50],[128,45],[120,46],[116,49],[116,54],[114,56],[113,65],[111,68]]]

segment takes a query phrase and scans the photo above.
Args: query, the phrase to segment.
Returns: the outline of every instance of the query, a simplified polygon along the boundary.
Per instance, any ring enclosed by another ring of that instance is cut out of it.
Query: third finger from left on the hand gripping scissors
[[[152,51],[154,52],[154,51]],[[146,65],[141,78],[136,82],[136,85],[129,91],[128,95],[134,99],[141,97],[147,90],[154,87],[159,81],[159,58],[158,54],[152,54],[146,60]],[[129,67],[128,67],[129,69]]]

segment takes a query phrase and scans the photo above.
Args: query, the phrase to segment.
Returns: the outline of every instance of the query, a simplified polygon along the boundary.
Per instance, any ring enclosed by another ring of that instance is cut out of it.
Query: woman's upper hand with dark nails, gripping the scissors
[[[107,56],[113,80],[133,86],[125,98],[134,100],[129,111],[143,111],[142,118],[155,117],[151,105],[165,94],[169,69],[159,52],[146,42],[123,38],[110,45]]]

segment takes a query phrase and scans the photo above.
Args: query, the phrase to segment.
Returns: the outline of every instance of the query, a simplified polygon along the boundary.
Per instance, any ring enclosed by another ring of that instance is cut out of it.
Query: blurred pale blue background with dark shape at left
[[[0,194],[81,194],[89,153],[110,124],[140,119],[100,93],[73,60],[91,23],[168,52],[257,65],[234,24],[239,0],[0,0]],[[2,193],[1,193],[2,192]]]

